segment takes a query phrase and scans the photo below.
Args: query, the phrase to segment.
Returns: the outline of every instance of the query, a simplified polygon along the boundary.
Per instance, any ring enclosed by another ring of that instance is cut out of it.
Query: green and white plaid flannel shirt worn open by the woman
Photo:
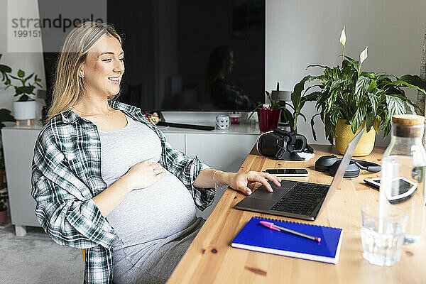
[[[162,146],[160,165],[183,182],[199,209],[212,204],[214,188],[192,185],[207,165],[197,156],[188,158],[173,149],[164,134],[148,123],[141,109],[112,100],[108,103],[158,135]],[[50,119],[35,142],[31,183],[35,215],[45,232],[60,245],[85,249],[84,283],[112,283],[111,244],[116,234],[92,200],[107,188],[101,175],[97,126],[70,109]]]

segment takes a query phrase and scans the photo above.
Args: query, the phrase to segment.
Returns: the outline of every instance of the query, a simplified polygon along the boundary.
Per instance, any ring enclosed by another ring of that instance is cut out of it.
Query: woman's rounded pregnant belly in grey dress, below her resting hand
[[[107,217],[124,246],[166,238],[187,228],[194,219],[190,191],[167,171],[150,187],[130,192]]]

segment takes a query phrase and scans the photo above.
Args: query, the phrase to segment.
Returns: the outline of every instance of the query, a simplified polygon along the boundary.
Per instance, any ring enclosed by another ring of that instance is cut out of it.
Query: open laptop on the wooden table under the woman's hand
[[[323,205],[324,207],[327,206],[330,198],[334,195],[334,191],[337,190],[340,182],[342,182],[346,168],[349,165],[352,155],[354,155],[355,148],[364,130],[365,127],[349,142],[331,185],[281,180],[281,186],[278,187],[272,182],[269,182],[273,188],[273,192],[268,192],[266,187],[261,185],[255,192],[236,204],[236,209],[311,221],[315,220],[321,207]]]

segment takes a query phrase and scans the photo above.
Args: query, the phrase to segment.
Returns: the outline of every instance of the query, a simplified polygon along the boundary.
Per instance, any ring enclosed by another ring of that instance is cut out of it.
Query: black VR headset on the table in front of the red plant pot
[[[314,153],[305,136],[284,129],[262,133],[257,138],[256,148],[261,155],[278,160],[305,160],[297,153]]]

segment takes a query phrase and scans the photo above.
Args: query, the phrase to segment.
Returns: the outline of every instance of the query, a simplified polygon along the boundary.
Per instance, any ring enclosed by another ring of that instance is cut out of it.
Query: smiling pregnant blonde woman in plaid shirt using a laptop
[[[35,214],[55,242],[85,249],[84,283],[165,283],[204,223],[196,207],[212,203],[216,186],[249,195],[252,182],[269,191],[268,180],[280,183],[173,149],[141,109],[114,100],[123,73],[114,28],[86,22],[67,35],[34,148]]]

